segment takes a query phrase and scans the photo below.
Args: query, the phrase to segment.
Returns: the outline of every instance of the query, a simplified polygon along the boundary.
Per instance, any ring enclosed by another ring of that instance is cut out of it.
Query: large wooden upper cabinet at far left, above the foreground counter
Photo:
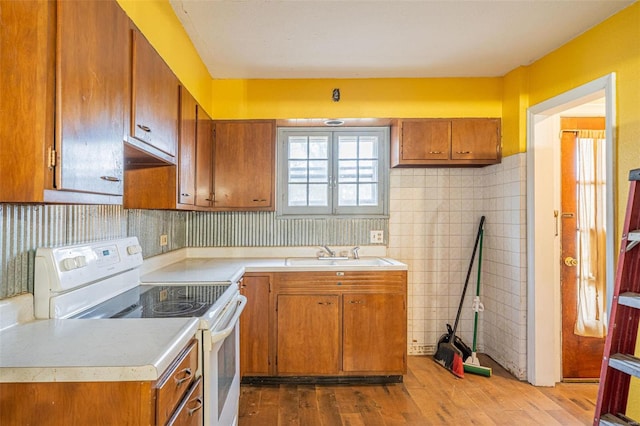
[[[0,22],[0,201],[121,204],[127,16],[115,1],[3,0]]]

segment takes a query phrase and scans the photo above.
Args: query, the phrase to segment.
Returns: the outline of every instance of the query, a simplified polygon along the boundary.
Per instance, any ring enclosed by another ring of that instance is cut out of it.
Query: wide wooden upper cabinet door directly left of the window
[[[215,123],[216,209],[273,210],[273,121]]]

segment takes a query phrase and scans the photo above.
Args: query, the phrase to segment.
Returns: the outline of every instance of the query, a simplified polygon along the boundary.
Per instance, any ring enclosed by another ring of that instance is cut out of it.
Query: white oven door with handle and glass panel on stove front
[[[240,314],[247,298],[231,302],[221,325],[203,331],[204,424],[238,424],[240,399]]]

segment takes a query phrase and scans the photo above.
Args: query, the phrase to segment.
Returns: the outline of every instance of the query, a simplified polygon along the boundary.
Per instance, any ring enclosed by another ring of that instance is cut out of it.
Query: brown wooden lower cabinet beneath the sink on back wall
[[[406,271],[245,275],[243,291],[245,382],[406,373]]]

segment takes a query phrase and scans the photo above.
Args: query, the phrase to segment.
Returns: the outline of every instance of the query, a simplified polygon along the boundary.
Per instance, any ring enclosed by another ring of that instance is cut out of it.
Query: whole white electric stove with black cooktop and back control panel
[[[237,283],[140,283],[136,237],[36,251],[36,318],[200,319],[204,424],[237,424],[239,325],[246,298]]]

